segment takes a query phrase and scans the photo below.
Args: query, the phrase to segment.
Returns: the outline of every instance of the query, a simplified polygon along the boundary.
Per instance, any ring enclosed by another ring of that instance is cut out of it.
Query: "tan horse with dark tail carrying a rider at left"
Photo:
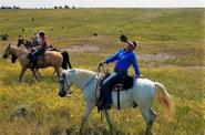
[[[28,54],[30,51],[18,48],[14,45],[10,45],[6,49],[3,59],[7,59],[9,55],[11,55],[11,62],[14,63],[18,59],[22,69],[21,74],[19,77],[19,81],[22,80],[23,73],[27,71],[27,69],[30,69],[37,80],[37,73],[34,70],[30,68],[30,59],[28,59]],[[70,69],[72,69],[71,63],[69,61],[69,54],[64,52],[57,52],[57,51],[47,51],[41,59],[38,59],[37,69],[45,69],[49,66],[53,66],[57,74],[60,74],[60,68],[68,69],[68,65]]]

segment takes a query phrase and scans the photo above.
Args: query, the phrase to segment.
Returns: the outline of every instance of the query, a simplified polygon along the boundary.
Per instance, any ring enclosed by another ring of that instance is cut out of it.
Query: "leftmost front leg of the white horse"
[[[93,103],[91,103],[91,102],[90,102],[90,103],[86,103],[86,105],[85,105],[85,112],[84,112],[84,114],[83,114],[83,116],[82,116],[80,133],[82,133],[84,123],[88,121],[88,118],[89,118],[89,116],[90,116],[90,114],[91,114],[93,107],[94,107],[94,104],[93,104]]]

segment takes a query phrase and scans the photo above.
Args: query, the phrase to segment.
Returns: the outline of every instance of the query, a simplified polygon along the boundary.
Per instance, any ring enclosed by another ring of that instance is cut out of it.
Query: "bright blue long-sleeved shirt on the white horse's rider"
[[[133,51],[124,51],[124,49],[121,49],[117,53],[112,55],[111,58],[106,59],[106,64],[117,61],[114,69],[125,70],[127,71],[131,64],[134,68],[135,74],[140,76],[140,70],[136,61],[136,56]]]

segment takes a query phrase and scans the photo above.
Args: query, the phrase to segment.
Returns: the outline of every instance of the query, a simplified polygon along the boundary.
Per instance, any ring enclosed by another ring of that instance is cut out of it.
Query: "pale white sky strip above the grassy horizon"
[[[205,8],[205,0],[0,0],[0,6],[21,8]]]

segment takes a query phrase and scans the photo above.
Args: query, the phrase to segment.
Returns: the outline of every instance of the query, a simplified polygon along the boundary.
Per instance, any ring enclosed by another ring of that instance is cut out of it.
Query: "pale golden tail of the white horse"
[[[157,90],[157,101],[164,108],[164,116],[167,121],[171,121],[175,111],[174,102],[163,84],[155,82],[155,87]]]

